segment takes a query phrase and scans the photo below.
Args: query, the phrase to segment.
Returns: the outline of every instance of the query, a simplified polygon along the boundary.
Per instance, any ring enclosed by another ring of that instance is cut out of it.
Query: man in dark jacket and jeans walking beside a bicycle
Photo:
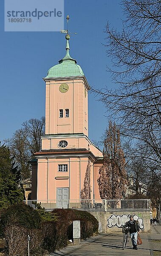
[[[137,248],[137,235],[140,231],[137,221],[133,219],[133,215],[130,215],[130,220],[125,223],[123,227],[129,228],[129,233],[131,237],[131,242],[133,244],[133,249],[138,250]]]

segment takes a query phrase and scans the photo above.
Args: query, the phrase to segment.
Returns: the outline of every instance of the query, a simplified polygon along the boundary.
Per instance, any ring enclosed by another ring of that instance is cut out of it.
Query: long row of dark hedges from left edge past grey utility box
[[[6,239],[7,256],[27,255],[27,236],[31,236],[31,256],[43,256],[66,247],[73,239],[73,221],[81,222],[81,239],[98,233],[98,221],[89,212],[55,209],[52,214],[16,204],[0,212],[0,237]],[[14,241],[14,243],[13,243]]]

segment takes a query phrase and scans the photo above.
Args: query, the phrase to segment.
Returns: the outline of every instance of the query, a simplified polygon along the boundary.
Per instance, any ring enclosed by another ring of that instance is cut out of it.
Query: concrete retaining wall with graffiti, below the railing
[[[150,212],[90,212],[99,221],[99,233],[122,233],[122,225],[133,215],[140,232],[150,232]]]

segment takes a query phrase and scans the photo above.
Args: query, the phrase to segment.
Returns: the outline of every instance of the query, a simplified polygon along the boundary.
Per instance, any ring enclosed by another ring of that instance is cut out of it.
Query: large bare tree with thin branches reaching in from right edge
[[[94,90],[121,132],[137,141],[137,157],[161,173],[161,0],[123,0],[118,32],[107,23],[114,89]]]

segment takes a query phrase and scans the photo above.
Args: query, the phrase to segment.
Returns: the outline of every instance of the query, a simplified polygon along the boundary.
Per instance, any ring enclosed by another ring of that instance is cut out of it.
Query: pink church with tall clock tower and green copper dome
[[[102,151],[88,138],[88,81],[66,55],[48,70],[45,136],[32,164],[33,200],[99,199],[97,178]],[[60,206],[61,207],[61,206]]]

